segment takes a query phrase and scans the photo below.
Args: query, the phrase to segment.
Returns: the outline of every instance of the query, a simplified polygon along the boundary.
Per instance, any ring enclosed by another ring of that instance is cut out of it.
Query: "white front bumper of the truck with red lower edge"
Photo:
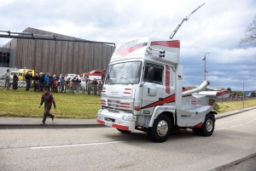
[[[134,131],[137,117],[127,113],[113,113],[108,110],[99,110],[97,122],[108,127]]]

